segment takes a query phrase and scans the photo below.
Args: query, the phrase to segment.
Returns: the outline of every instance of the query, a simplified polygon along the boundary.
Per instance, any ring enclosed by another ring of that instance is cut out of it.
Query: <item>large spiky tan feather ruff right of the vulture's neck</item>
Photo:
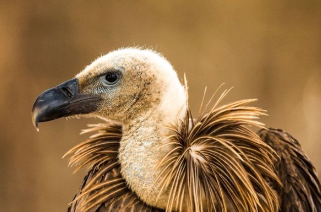
[[[188,109],[184,120],[172,125],[171,151],[159,162],[155,185],[169,186],[166,211],[272,212],[278,197],[269,183],[281,185],[274,172],[276,153],[248,126],[264,127],[256,119],[265,111],[246,106],[256,99],[217,107],[194,120]]]

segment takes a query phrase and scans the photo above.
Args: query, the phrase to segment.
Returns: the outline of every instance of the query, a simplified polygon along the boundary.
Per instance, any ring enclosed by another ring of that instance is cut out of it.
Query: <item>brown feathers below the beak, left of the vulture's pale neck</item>
[[[66,153],[74,153],[70,166],[89,166],[68,212],[160,212],[141,201],[120,174],[117,154],[121,126],[106,123],[90,127],[83,132],[98,133]]]

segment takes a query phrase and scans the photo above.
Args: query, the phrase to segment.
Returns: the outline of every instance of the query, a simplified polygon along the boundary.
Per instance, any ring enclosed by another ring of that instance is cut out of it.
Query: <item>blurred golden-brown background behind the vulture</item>
[[[153,46],[187,74],[192,109],[205,85],[225,102],[258,98],[263,121],[298,138],[321,174],[321,1],[0,2],[0,210],[64,212],[84,171],[61,156],[87,123],[31,123],[40,92],[100,54]]]

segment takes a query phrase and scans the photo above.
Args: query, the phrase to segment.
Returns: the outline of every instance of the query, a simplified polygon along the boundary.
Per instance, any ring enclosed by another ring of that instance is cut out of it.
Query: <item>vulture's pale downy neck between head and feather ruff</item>
[[[167,92],[157,107],[123,126],[119,149],[121,174],[129,187],[148,205],[162,209],[166,208],[168,191],[164,190],[156,202],[161,188],[153,186],[158,175],[155,170],[170,150],[162,146],[170,134],[166,126],[183,119],[187,109],[184,88],[176,90],[181,93]]]

